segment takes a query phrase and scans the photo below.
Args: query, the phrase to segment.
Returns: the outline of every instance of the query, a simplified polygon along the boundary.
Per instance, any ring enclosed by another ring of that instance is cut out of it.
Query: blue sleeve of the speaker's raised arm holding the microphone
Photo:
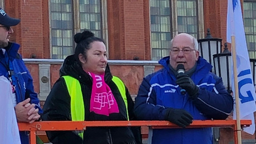
[[[214,78],[216,83],[213,91],[200,88],[198,97],[193,103],[209,118],[225,120],[233,110],[233,97],[225,90],[222,78],[216,75]]]

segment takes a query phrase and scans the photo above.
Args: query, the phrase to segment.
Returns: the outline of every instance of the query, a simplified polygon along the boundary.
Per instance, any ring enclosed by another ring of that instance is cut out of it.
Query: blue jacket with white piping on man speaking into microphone
[[[163,68],[146,76],[135,99],[134,112],[140,120],[165,120],[166,108],[185,109],[194,120],[226,119],[233,110],[233,98],[222,78],[210,72],[212,66],[199,57],[191,76],[199,87],[198,97],[180,93],[176,77],[168,67],[170,57],[159,61]],[[212,144],[211,128],[153,129],[152,144]]]

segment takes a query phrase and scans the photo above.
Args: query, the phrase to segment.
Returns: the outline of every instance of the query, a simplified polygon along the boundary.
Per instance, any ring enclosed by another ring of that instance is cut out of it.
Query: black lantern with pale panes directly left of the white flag
[[[218,53],[213,55],[213,67],[215,74],[219,77],[222,77],[223,84],[228,92],[232,92],[231,88],[231,53],[227,48],[227,43],[225,43],[225,48],[223,53]]]

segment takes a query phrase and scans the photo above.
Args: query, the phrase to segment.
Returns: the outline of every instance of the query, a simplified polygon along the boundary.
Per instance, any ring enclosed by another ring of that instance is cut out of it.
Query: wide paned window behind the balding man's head
[[[203,21],[198,21],[203,19],[203,14],[198,15],[202,8],[202,0],[150,0],[152,60],[169,55],[171,38],[178,33],[204,36]]]

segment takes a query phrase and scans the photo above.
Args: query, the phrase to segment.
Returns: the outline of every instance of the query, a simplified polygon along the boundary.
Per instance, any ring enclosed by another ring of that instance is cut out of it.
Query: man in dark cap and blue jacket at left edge
[[[12,85],[12,103],[18,122],[38,121],[42,113],[37,93],[34,92],[32,77],[25,67],[21,56],[17,53],[20,45],[10,43],[11,26],[20,23],[19,19],[11,18],[0,8],[0,73]],[[21,143],[29,144],[28,133],[20,132]]]

